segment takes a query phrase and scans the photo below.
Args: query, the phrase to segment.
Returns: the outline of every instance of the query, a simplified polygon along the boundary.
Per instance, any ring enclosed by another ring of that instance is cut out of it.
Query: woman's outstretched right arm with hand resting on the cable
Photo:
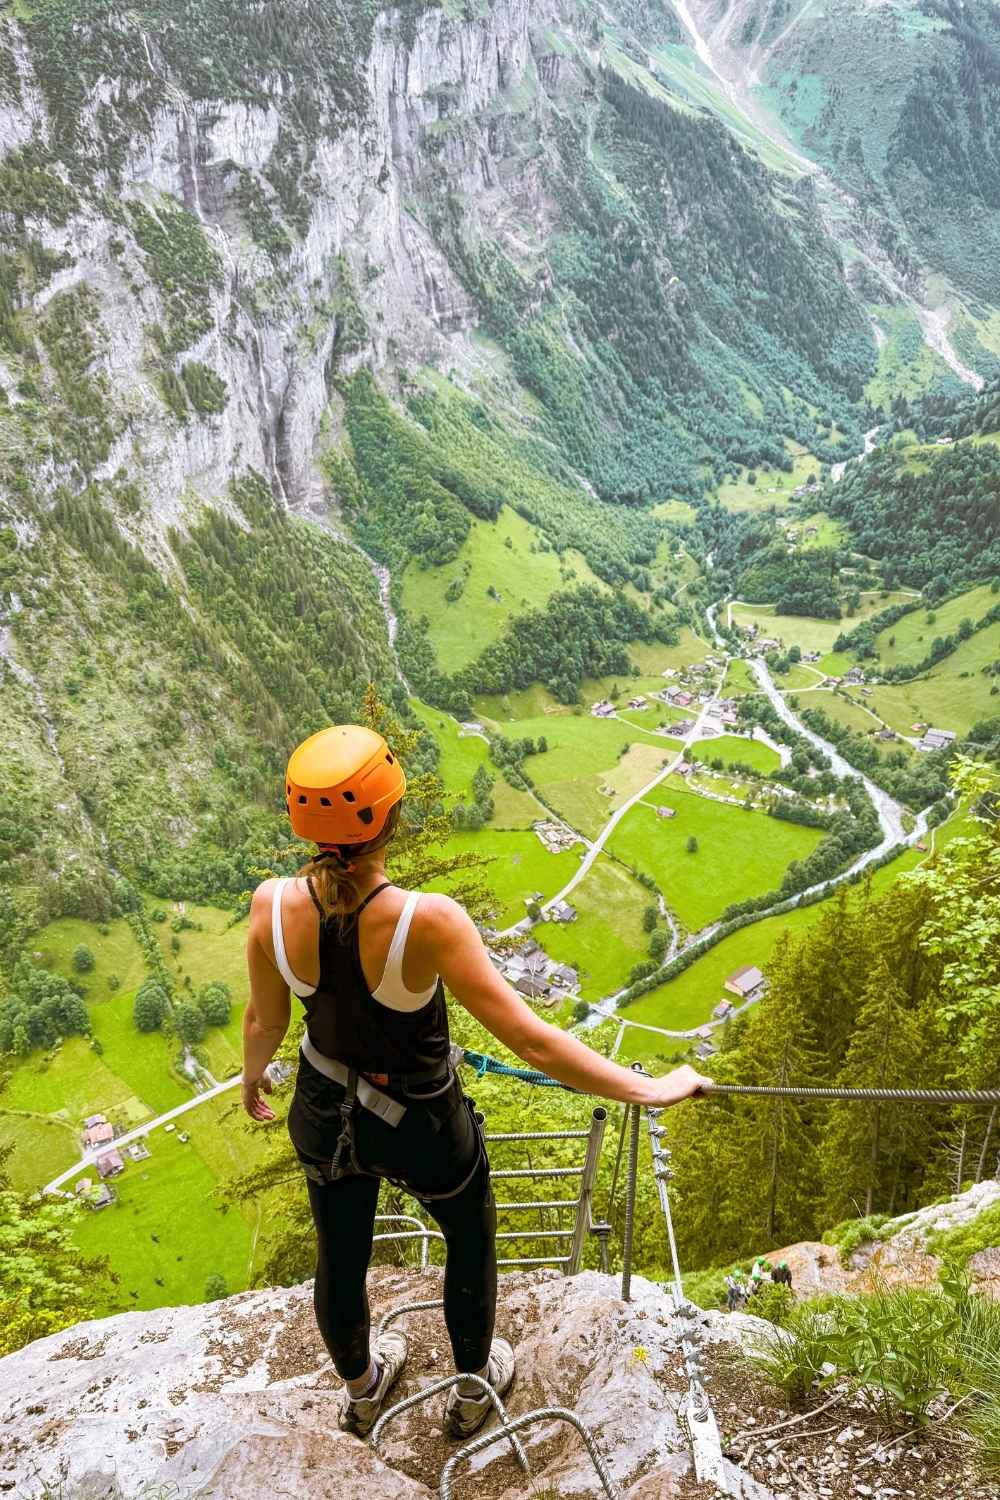
[[[418,942],[456,1000],[526,1064],[583,1094],[624,1104],[664,1107],[691,1098],[709,1080],[694,1068],[675,1068],[663,1078],[645,1078],[601,1058],[526,1005],[496,972],[469,915],[448,896],[424,896]],[[417,927],[417,920],[414,921]]]

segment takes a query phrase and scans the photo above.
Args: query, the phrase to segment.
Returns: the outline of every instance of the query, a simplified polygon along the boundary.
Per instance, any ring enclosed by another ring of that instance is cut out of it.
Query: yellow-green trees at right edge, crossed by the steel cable
[[[981,771],[966,772],[973,800]],[[841,892],[786,939],[766,998],[730,1024],[714,1074],[741,1083],[996,1088],[996,908],[985,818],[889,894]],[[994,930],[996,924],[990,924]],[[859,1214],[901,1214],[993,1173],[997,1112],[730,1098],[669,1120],[688,1264],[814,1239]],[[706,1164],[711,1162],[711,1168]]]

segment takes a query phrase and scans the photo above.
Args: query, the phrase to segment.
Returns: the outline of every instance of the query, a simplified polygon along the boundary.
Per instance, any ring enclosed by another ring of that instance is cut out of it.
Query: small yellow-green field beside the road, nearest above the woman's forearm
[[[580,914],[577,920],[540,922],[532,936],[550,957],[579,969],[583,999],[600,1000],[621,988],[633,964],[648,957],[642,914],[652,897],[628,870],[601,855],[568,900]]]

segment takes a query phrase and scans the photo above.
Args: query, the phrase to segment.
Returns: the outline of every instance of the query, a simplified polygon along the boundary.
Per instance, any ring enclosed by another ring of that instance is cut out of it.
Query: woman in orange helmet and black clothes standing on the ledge
[[[540,1020],[496,974],[477,928],[447,896],[385,879],[406,778],[381,735],[340,724],[294,752],[288,816],[318,852],[291,880],[265,880],[250,908],[250,1000],[243,1024],[243,1106],[274,1113],[265,1068],[306,1008],[288,1130],[316,1227],[315,1310],[346,1390],[340,1426],[364,1436],[406,1360],[406,1335],[369,1344],[366,1274],[382,1178],[439,1224],[444,1312],[459,1374],[504,1395],[514,1352],[493,1338],[496,1206],[481,1131],[450,1064],[444,986],[505,1047],[570,1088],[663,1107],[706,1080],[693,1068],[645,1078]],[[468,1437],[492,1410],[474,1383],[451,1386],[445,1426]]]

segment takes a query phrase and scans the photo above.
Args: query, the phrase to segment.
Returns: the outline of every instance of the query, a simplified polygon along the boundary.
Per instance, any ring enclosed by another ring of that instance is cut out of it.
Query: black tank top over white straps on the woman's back
[[[441,980],[418,1011],[394,1011],[375,999],[361,968],[358,916],[391,884],[370,891],[343,927],[319,912],[319,984],[300,996],[309,1040],[316,1052],[360,1072],[430,1076],[436,1066],[444,1072],[451,1041]],[[312,885],[309,894],[316,902]]]

